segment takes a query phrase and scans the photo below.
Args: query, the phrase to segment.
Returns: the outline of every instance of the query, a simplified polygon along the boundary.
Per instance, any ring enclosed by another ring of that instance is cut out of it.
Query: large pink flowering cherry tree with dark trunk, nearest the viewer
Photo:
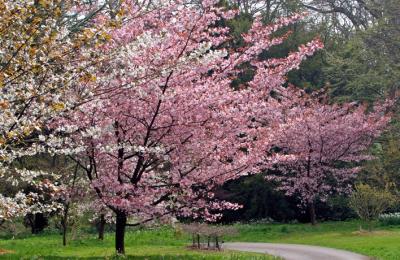
[[[55,136],[69,134],[60,147],[81,151],[74,160],[99,203],[115,213],[118,253],[125,251],[129,216],[212,221],[220,210],[239,207],[215,200],[213,190],[259,171],[273,143],[269,122],[281,110],[270,91],[283,89],[287,72],[322,48],[316,39],[286,58],[258,59],[285,40],[272,33],[301,18],[295,15],[268,26],[257,19],[240,51],[223,49],[228,29],[216,23],[235,13],[216,3],[161,2],[144,10],[126,2],[123,25],[99,49],[109,58],[82,86],[93,100],[52,125]],[[255,76],[233,90],[245,62]]]

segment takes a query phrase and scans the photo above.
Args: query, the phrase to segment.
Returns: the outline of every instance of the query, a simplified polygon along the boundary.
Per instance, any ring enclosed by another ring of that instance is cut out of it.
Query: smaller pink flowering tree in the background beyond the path
[[[390,102],[367,112],[366,105],[357,103],[329,104],[320,93],[309,96],[293,88],[288,93],[288,109],[274,131],[280,151],[272,161],[280,174],[267,179],[298,196],[314,225],[317,200],[352,191],[357,163],[371,159],[365,152],[390,121]]]

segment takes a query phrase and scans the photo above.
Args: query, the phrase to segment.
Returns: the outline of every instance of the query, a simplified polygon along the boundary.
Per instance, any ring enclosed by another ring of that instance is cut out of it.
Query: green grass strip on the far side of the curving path
[[[276,242],[345,249],[376,259],[400,259],[400,226],[376,225],[372,232],[360,232],[359,221],[309,224],[238,225],[240,235],[231,241]]]

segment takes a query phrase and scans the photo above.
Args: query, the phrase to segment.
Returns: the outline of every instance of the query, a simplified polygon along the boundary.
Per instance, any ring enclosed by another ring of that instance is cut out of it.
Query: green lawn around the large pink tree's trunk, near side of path
[[[11,253],[1,259],[232,259],[272,260],[271,256],[234,251],[196,251],[187,249],[189,237],[171,228],[130,231],[126,235],[126,257],[114,254],[114,237],[107,233],[104,241],[95,234],[71,241],[63,247],[58,234],[42,234],[18,239],[0,239],[0,249]]]

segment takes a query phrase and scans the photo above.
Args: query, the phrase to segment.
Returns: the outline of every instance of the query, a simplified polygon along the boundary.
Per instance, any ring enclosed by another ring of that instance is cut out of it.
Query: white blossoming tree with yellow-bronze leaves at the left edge
[[[90,98],[75,86],[91,80],[101,59],[95,47],[114,26],[100,15],[108,8],[118,21],[111,2],[117,1],[0,0],[1,222],[58,207],[48,197],[58,176],[24,170],[16,160],[57,152],[58,140],[45,142],[49,120]],[[28,184],[35,188],[21,191]]]

